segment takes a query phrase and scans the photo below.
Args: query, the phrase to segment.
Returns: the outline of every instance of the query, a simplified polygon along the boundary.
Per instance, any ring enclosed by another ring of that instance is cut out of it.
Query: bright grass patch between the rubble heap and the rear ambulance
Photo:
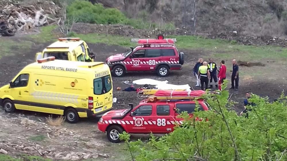
[[[53,30],[56,29],[56,25],[44,26],[40,28],[40,33],[28,35],[33,41],[39,43],[45,43],[50,41],[55,41],[55,35],[53,35]]]

